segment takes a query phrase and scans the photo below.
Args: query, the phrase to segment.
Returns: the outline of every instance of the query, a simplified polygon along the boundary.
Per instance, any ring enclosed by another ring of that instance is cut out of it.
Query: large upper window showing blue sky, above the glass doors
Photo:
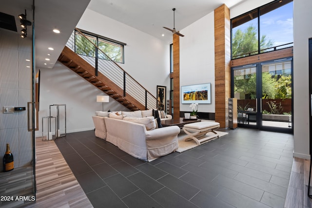
[[[292,7],[276,0],[232,19],[232,59],[291,47]]]

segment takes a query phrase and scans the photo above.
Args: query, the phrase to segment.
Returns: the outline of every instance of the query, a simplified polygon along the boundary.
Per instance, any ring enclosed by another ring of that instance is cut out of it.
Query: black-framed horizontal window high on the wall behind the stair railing
[[[83,32],[83,34],[91,40],[93,44],[76,31],[75,50],[77,54],[96,57],[96,45],[100,49],[98,50],[98,58],[106,60],[111,59],[118,63],[124,63],[123,49],[124,45],[126,45],[125,43],[87,32]]]

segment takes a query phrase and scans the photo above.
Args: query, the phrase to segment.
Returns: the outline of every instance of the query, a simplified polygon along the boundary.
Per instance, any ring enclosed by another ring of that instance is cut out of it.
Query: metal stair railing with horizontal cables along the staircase
[[[76,36],[79,38],[76,38]],[[86,42],[88,47],[84,52],[86,55],[76,53],[77,48],[81,50],[86,46]],[[87,35],[83,34],[78,28],[73,31],[66,46],[93,66],[96,69],[96,75],[98,70],[98,72],[108,77],[111,81],[117,84],[118,87],[123,89],[123,97],[126,98],[126,93],[131,95],[145,106],[145,109],[156,109],[157,102],[158,106],[163,105],[154,95],[148,92],[148,90],[123,70],[115,61],[99,49],[92,41],[92,37],[87,38]],[[91,49],[90,46],[92,46]]]

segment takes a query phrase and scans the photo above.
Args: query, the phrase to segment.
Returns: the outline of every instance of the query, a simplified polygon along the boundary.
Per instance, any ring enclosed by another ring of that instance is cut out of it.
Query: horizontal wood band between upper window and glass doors
[[[231,67],[243,66],[247,64],[269,61],[285,57],[292,57],[292,55],[293,55],[293,47],[284,48],[277,51],[267,52],[264,54],[257,54],[254,56],[234,59],[231,61]]]

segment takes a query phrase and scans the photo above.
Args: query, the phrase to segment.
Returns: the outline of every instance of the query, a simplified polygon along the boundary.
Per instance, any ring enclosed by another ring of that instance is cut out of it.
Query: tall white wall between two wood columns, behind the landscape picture
[[[212,12],[180,31],[180,86],[211,83],[211,104],[198,105],[198,112],[215,113],[214,27]],[[191,111],[181,96],[180,111]]]

